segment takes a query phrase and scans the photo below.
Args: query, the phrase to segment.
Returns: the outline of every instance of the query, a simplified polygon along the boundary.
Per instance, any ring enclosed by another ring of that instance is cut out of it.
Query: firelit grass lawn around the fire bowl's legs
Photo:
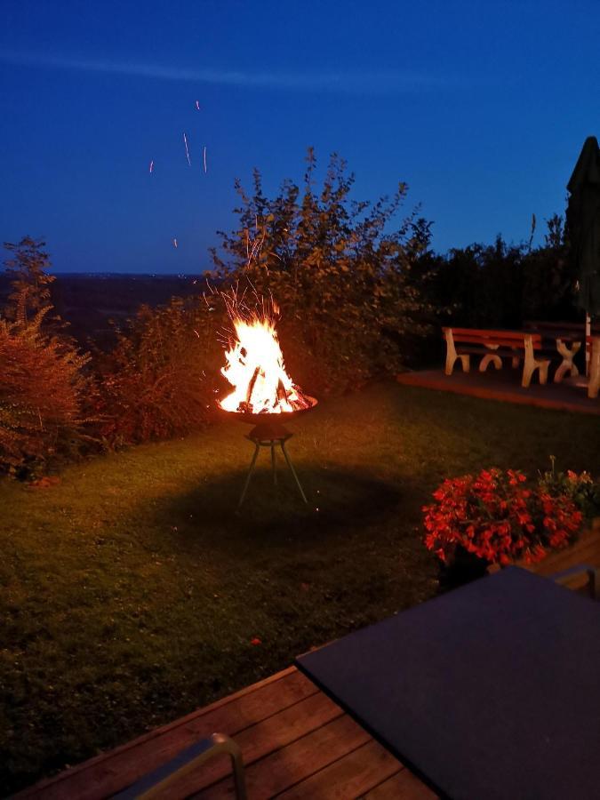
[[[600,469],[598,419],[386,383],[291,425],[303,506],[247,428],[0,481],[0,786],[15,790],[437,591],[420,508],[444,476]],[[251,644],[254,637],[261,644]]]

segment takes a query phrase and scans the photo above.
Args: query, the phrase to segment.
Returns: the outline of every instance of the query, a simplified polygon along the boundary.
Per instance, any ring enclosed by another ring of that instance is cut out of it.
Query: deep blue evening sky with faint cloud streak
[[[58,271],[202,271],[234,179],[275,191],[313,145],[357,198],[406,181],[437,250],[519,241],[600,135],[599,48],[597,0],[3,0],[0,236]]]

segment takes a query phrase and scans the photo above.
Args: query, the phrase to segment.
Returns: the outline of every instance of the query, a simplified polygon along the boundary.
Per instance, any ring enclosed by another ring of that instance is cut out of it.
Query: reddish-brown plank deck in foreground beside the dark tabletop
[[[249,800],[436,797],[293,667],[44,780],[18,797],[110,797],[213,732],[227,733],[242,748]],[[164,800],[234,796],[228,757],[222,756],[186,775]]]

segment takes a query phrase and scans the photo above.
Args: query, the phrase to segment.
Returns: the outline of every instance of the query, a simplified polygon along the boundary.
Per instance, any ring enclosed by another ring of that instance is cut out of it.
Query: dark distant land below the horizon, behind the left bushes
[[[53,273],[52,302],[70,324],[70,332],[85,345],[89,339],[100,347],[114,340],[116,324],[124,324],[140,305],[161,306],[172,297],[191,297],[206,289],[201,275],[124,275],[121,273]],[[0,307],[10,291],[0,272]]]

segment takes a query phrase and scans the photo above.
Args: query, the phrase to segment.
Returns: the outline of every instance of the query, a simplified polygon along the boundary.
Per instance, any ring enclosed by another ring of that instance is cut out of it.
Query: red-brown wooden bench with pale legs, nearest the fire
[[[540,333],[524,331],[487,331],[476,328],[442,329],[446,341],[446,375],[452,375],[454,364],[460,360],[464,372],[470,370],[470,356],[482,356],[479,372],[485,372],[489,364],[497,370],[502,366],[502,357],[511,359],[513,368],[517,368],[524,357],[523,378],[521,385],[528,387],[532,376],[539,370],[540,384],[548,380],[549,359],[537,359],[535,352],[542,349]],[[457,348],[456,345],[459,345]]]

